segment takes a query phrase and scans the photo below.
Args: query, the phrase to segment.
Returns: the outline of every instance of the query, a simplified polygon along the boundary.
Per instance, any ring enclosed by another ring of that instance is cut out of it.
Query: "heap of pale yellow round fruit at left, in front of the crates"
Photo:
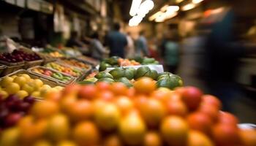
[[[32,79],[29,74],[7,76],[0,81],[0,95],[3,98],[12,94],[17,95],[20,99],[26,96],[42,97],[45,93],[62,89],[60,86],[51,88],[50,85],[44,85],[42,80]]]

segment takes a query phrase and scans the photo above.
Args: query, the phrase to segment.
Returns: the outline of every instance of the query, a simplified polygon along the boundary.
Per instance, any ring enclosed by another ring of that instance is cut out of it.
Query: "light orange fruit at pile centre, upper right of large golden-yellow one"
[[[121,115],[127,115],[134,108],[134,104],[127,96],[118,96],[115,101],[116,106],[121,112]]]

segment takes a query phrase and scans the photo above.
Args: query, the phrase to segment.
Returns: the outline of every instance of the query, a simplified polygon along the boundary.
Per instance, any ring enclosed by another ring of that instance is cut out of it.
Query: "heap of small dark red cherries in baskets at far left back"
[[[0,61],[17,63],[20,61],[37,61],[41,58],[36,53],[26,53],[23,50],[14,50],[12,53],[0,54]]]

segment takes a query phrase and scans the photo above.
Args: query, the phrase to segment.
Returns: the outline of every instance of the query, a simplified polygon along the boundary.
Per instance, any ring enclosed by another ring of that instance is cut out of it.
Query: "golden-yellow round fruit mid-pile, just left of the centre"
[[[115,104],[107,103],[97,109],[94,114],[95,123],[104,131],[117,128],[121,114]]]

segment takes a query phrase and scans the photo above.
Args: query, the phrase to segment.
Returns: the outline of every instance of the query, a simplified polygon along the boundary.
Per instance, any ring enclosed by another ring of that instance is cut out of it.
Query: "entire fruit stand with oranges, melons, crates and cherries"
[[[0,55],[0,145],[256,145],[255,128],[154,58],[113,56],[94,68],[88,57],[40,53]]]

